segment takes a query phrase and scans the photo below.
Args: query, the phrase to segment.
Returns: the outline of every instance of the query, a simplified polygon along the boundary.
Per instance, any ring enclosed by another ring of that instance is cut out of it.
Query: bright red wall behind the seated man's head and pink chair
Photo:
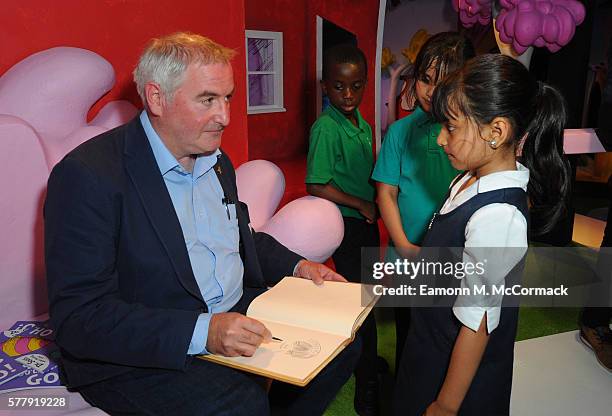
[[[90,115],[116,99],[141,106],[131,72],[151,37],[187,30],[236,49],[237,88],[223,148],[235,165],[247,160],[244,0],[28,0],[2,1],[1,9],[0,74],[27,56],[54,46],[89,49],[113,65],[117,82]]]

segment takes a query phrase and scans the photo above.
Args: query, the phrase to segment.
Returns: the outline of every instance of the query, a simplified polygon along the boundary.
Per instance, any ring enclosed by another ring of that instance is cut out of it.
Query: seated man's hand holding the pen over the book
[[[259,321],[236,312],[217,313],[210,318],[206,349],[226,357],[250,357],[272,334]]]

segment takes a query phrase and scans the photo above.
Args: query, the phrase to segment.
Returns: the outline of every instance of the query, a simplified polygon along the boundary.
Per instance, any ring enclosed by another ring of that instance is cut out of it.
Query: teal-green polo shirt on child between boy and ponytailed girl
[[[389,126],[372,179],[399,188],[397,204],[411,243],[421,244],[434,212],[459,171],[436,139],[440,124],[420,107]]]

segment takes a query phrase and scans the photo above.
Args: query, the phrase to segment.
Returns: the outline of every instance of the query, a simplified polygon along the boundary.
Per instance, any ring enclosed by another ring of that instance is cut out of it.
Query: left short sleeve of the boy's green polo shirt
[[[310,131],[310,148],[306,165],[306,183],[326,184],[334,177],[337,141],[334,126],[317,122]]]

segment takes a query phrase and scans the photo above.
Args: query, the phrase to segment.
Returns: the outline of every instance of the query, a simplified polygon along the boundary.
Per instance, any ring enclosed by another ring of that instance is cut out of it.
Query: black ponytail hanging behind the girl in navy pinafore
[[[536,84],[534,114],[525,131],[520,161],[529,169],[531,211],[541,219],[533,230],[537,235],[550,231],[565,214],[571,180],[569,162],[563,154],[565,100],[556,88],[540,81]]]

